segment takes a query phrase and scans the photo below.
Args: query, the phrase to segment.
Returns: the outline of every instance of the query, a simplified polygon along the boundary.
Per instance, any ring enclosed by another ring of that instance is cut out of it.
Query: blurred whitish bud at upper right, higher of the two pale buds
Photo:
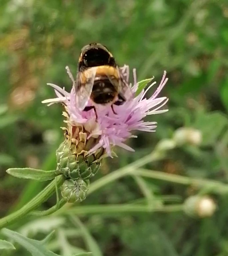
[[[198,146],[202,141],[202,133],[194,128],[182,127],[175,131],[173,139],[177,145],[189,143]]]

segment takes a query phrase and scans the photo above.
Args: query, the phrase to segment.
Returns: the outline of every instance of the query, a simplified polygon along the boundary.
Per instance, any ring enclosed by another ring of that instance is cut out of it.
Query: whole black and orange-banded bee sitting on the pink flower
[[[121,105],[132,97],[131,89],[108,49],[98,43],[82,48],[75,83],[76,105],[80,110],[94,109],[97,105]],[[88,101],[92,106],[86,106]]]

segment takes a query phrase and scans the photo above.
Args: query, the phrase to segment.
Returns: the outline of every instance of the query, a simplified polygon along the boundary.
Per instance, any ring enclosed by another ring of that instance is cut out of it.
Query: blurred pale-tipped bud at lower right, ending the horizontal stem
[[[184,202],[184,212],[190,217],[210,217],[215,210],[216,204],[208,196],[190,196]]]

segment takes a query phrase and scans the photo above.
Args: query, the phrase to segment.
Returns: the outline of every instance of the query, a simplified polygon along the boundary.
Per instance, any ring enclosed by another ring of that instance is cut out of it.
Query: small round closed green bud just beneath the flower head
[[[61,186],[61,195],[68,203],[75,203],[86,199],[88,191],[88,180],[65,180]]]

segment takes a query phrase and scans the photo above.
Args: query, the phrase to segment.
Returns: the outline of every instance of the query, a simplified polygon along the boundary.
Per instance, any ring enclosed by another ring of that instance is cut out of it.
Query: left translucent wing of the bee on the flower
[[[83,110],[90,98],[93,90],[94,79],[96,76],[96,67],[78,72],[75,86],[75,100],[79,110]]]

